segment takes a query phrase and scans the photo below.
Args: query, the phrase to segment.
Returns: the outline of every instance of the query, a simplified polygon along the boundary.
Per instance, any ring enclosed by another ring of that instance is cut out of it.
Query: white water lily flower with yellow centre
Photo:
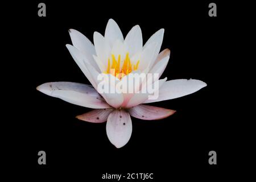
[[[167,78],[154,80],[159,84],[159,97],[149,100],[143,93],[101,93],[97,92],[99,81],[97,76],[105,73],[115,78],[116,82],[124,82],[134,72],[159,73],[162,75],[167,66],[170,50],[159,53],[163,42],[164,30],[160,29],[146,44],[142,43],[141,28],[137,25],[131,28],[126,38],[113,19],[109,19],[105,36],[94,32],[93,44],[79,31],[69,30],[72,45],[67,48],[81,71],[92,86],[75,82],[48,82],[37,89],[48,96],[57,97],[71,104],[93,108],[88,113],[78,115],[83,121],[106,122],[106,133],[115,147],[125,146],[131,137],[131,117],[153,120],[163,119],[175,113],[175,110],[144,105],[151,102],[171,100],[183,97],[207,86],[200,80],[169,80]],[[110,69],[114,73],[110,73]],[[129,86],[129,85],[127,85]],[[137,90],[143,85],[138,85]]]

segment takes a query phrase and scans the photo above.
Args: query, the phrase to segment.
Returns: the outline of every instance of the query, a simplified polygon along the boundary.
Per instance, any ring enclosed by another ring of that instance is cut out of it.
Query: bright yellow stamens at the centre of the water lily
[[[112,58],[112,64],[111,59]],[[122,79],[122,77],[128,75],[130,72],[135,71],[139,67],[139,60],[136,64],[132,64],[129,53],[126,53],[125,60],[123,60],[123,65],[121,67],[120,61],[121,61],[121,55],[118,55],[118,59],[115,59],[115,56],[112,55],[112,57],[108,60],[108,69],[106,70],[106,74],[111,74],[115,77],[117,77],[119,80]]]

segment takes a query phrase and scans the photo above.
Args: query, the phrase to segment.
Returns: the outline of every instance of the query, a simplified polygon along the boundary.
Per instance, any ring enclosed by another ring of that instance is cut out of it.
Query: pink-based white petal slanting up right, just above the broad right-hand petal
[[[167,80],[167,78],[157,80],[157,81],[155,81],[155,84],[158,84],[158,88],[160,89],[166,80]],[[147,86],[147,85],[148,84],[145,84],[144,86]],[[155,93],[155,92],[158,92],[157,88],[153,89],[153,93]],[[141,91],[139,91],[139,93],[135,93],[134,96],[131,97],[130,101],[126,105],[126,108],[131,108],[131,107],[137,106],[139,104],[142,104],[144,101],[148,100],[150,95],[151,94],[148,92],[142,93]]]

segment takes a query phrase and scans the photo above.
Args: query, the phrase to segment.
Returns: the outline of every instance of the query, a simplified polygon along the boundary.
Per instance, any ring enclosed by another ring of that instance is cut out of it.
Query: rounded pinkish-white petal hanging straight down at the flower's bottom
[[[125,146],[131,137],[133,126],[129,113],[124,110],[114,110],[109,114],[106,123],[106,133],[110,142],[117,148]]]

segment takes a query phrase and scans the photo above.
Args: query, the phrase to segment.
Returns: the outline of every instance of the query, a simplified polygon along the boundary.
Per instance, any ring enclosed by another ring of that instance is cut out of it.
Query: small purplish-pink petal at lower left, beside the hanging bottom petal
[[[102,123],[107,121],[109,114],[114,109],[93,109],[92,111],[89,111],[88,113],[84,113],[81,115],[77,115],[76,118],[80,119],[82,121],[88,121],[92,123]]]

